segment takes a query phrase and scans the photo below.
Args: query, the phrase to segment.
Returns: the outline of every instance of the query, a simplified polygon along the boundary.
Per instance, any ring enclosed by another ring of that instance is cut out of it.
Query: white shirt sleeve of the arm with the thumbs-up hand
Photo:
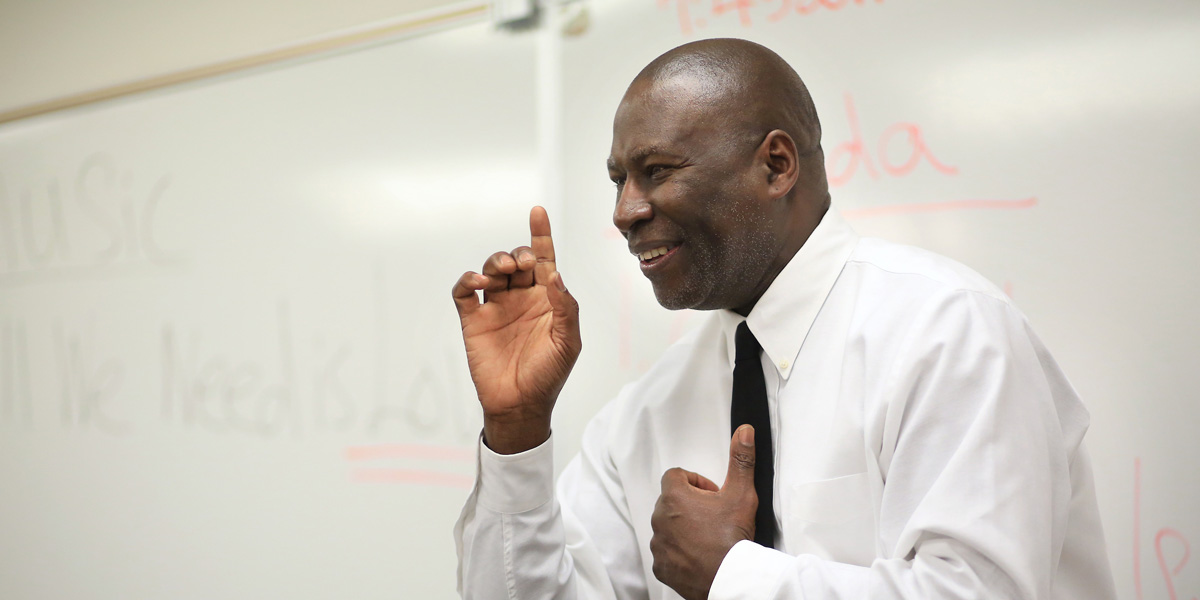
[[[902,348],[881,388],[888,433],[870,449],[884,480],[877,558],[859,566],[743,541],[712,600],[1054,598],[1087,428],[1074,390],[1025,318],[985,294],[930,302]],[[1096,590],[1086,598],[1111,598],[1103,582]]]

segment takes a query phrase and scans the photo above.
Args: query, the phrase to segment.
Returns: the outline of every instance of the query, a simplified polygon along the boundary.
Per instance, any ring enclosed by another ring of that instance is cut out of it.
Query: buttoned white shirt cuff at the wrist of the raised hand
[[[554,434],[517,454],[496,454],[479,438],[479,497],[499,514],[526,512],[554,497]]]

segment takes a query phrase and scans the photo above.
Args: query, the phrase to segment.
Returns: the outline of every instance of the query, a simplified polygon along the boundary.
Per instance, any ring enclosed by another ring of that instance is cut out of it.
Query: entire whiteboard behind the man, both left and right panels
[[[1200,594],[1200,8],[586,8],[554,44],[475,24],[0,126],[0,598],[454,596],[480,418],[450,286],[551,206],[565,464],[703,319],[654,302],[602,164],[634,74],[709,36],[805,78],[859,233],[1030,316],[1092,412],[1122,598]]]

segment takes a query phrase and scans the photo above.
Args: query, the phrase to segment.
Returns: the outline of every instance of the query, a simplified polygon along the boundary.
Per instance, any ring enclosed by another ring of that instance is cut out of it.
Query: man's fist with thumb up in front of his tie
[[[654,576],[688,600],[707,599],[725,554],[754,539],[754,427],[743,425],[730,440],[725,487],[680,468],[662,474],[662,493],[650,517]]]

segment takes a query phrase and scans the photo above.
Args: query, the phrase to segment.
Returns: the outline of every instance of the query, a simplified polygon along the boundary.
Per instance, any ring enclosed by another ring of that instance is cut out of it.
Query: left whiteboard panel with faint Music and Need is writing
[[[533,52],[476,24],[0,131],[0,598],[454,595],[449,292],[527,218]]]

